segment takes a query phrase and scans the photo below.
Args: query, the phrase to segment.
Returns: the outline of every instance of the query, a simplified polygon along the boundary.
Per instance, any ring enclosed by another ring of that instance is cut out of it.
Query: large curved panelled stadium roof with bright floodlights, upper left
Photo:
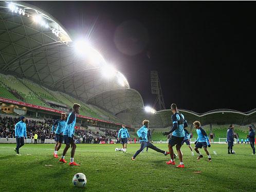
[[[67,30],[39,8],[23,2],[0,2],[0,42],[3,73],[22,76],[85,102],[99,100],[103,92],[111,101],[120,101],[121,89],[125,89],[127,95],[122,102],[107,102],[102,106],[113,113],[128,106],[143,106],[137,91],[126,90],[130,86],[122,73],[110,68],[89,45],[77,50],[77,43],[72,42]],[[101,98],[105,103],[106,98]]]

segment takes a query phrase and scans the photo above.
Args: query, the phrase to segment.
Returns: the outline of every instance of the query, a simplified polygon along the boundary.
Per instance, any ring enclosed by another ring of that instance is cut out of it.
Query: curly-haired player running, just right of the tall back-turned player
[[[210,162],[210,161],[212,161],[212,159],[211,159],[209,151],[207,150],[207,146],[211,147],[211,145],[209,143],[209,138],[207,137],[205,130],[202,127],[200,127],[199,121],[195,121],[193,123],[193,125],[196,128],[196,133],[197,133],[197,139],[195,141],[195,148],[194,148],[198,154],[197,160],[204,157],[198,150],[198,148],[202,149],[202,147],[203,147],[208,156],[208,161]]]

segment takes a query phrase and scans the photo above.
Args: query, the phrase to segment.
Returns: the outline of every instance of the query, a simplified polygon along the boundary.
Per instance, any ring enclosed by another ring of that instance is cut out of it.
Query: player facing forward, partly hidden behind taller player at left
[[[66,113],[61,113],[61,119],[56,120],[52,125],[52,133],[54,132],[55,126],[57,125],[54,138],[54,140],[56,141],[53,153],[54,158],[59,158],[57,152],[61,148],[61,144],[63,142],[63,131],[66,124],[66,117]]]

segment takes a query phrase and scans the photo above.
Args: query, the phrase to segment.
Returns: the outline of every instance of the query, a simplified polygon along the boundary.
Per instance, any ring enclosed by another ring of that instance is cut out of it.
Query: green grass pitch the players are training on
[[[197,161],[197,156],[191,156],[184,145],[181,148],[184,169],[167,165],[170,156],[152,149],[148,153],[141,152],[136,161],[132,161],[139,144],[127,144],[127,153],[115,151],[120,144],[78,144],[75,161],[81,166],[69,166],[53,158],[53,146],[25,144],[20,149],[22,156],[15,156],[15,144],[0,144],[0,191],[256,190],[256,156],[251,155],[249,145],[236,144],[236,154],[228,155],[226,144],[212,144],[209,148],[212,162],[207,162],[203,150],[200,151],[204,158]],[[167,150],[167,144],[156,146]],[[59,156],[62,151],[63,146]],[[69,162],[70,149],[65,159]],[[202,173],[196,174],[196,171]],[[83,172],[87,178],[85,188],[72,186],[72,177],[78,172]]]

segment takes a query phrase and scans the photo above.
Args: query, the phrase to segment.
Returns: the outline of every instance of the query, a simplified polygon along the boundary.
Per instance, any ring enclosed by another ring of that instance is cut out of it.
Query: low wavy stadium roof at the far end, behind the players
[[[202,125],[207,124],[238,124],[248,125],[256,122],[256,109],[248,112],[240,112],[231,109],[216,109],[205,113],[196,113],[186,109],[178,109],[184,114],[189,124],[194,121],[200,121]],[[123,110],[117,114],[117,117],[125,123],[140,127],[144,119],[150,120],[152,128],[166,128],[172,126],[170,109],[157,111],[156,113],[148,113],[143,107],[134,107]]]

